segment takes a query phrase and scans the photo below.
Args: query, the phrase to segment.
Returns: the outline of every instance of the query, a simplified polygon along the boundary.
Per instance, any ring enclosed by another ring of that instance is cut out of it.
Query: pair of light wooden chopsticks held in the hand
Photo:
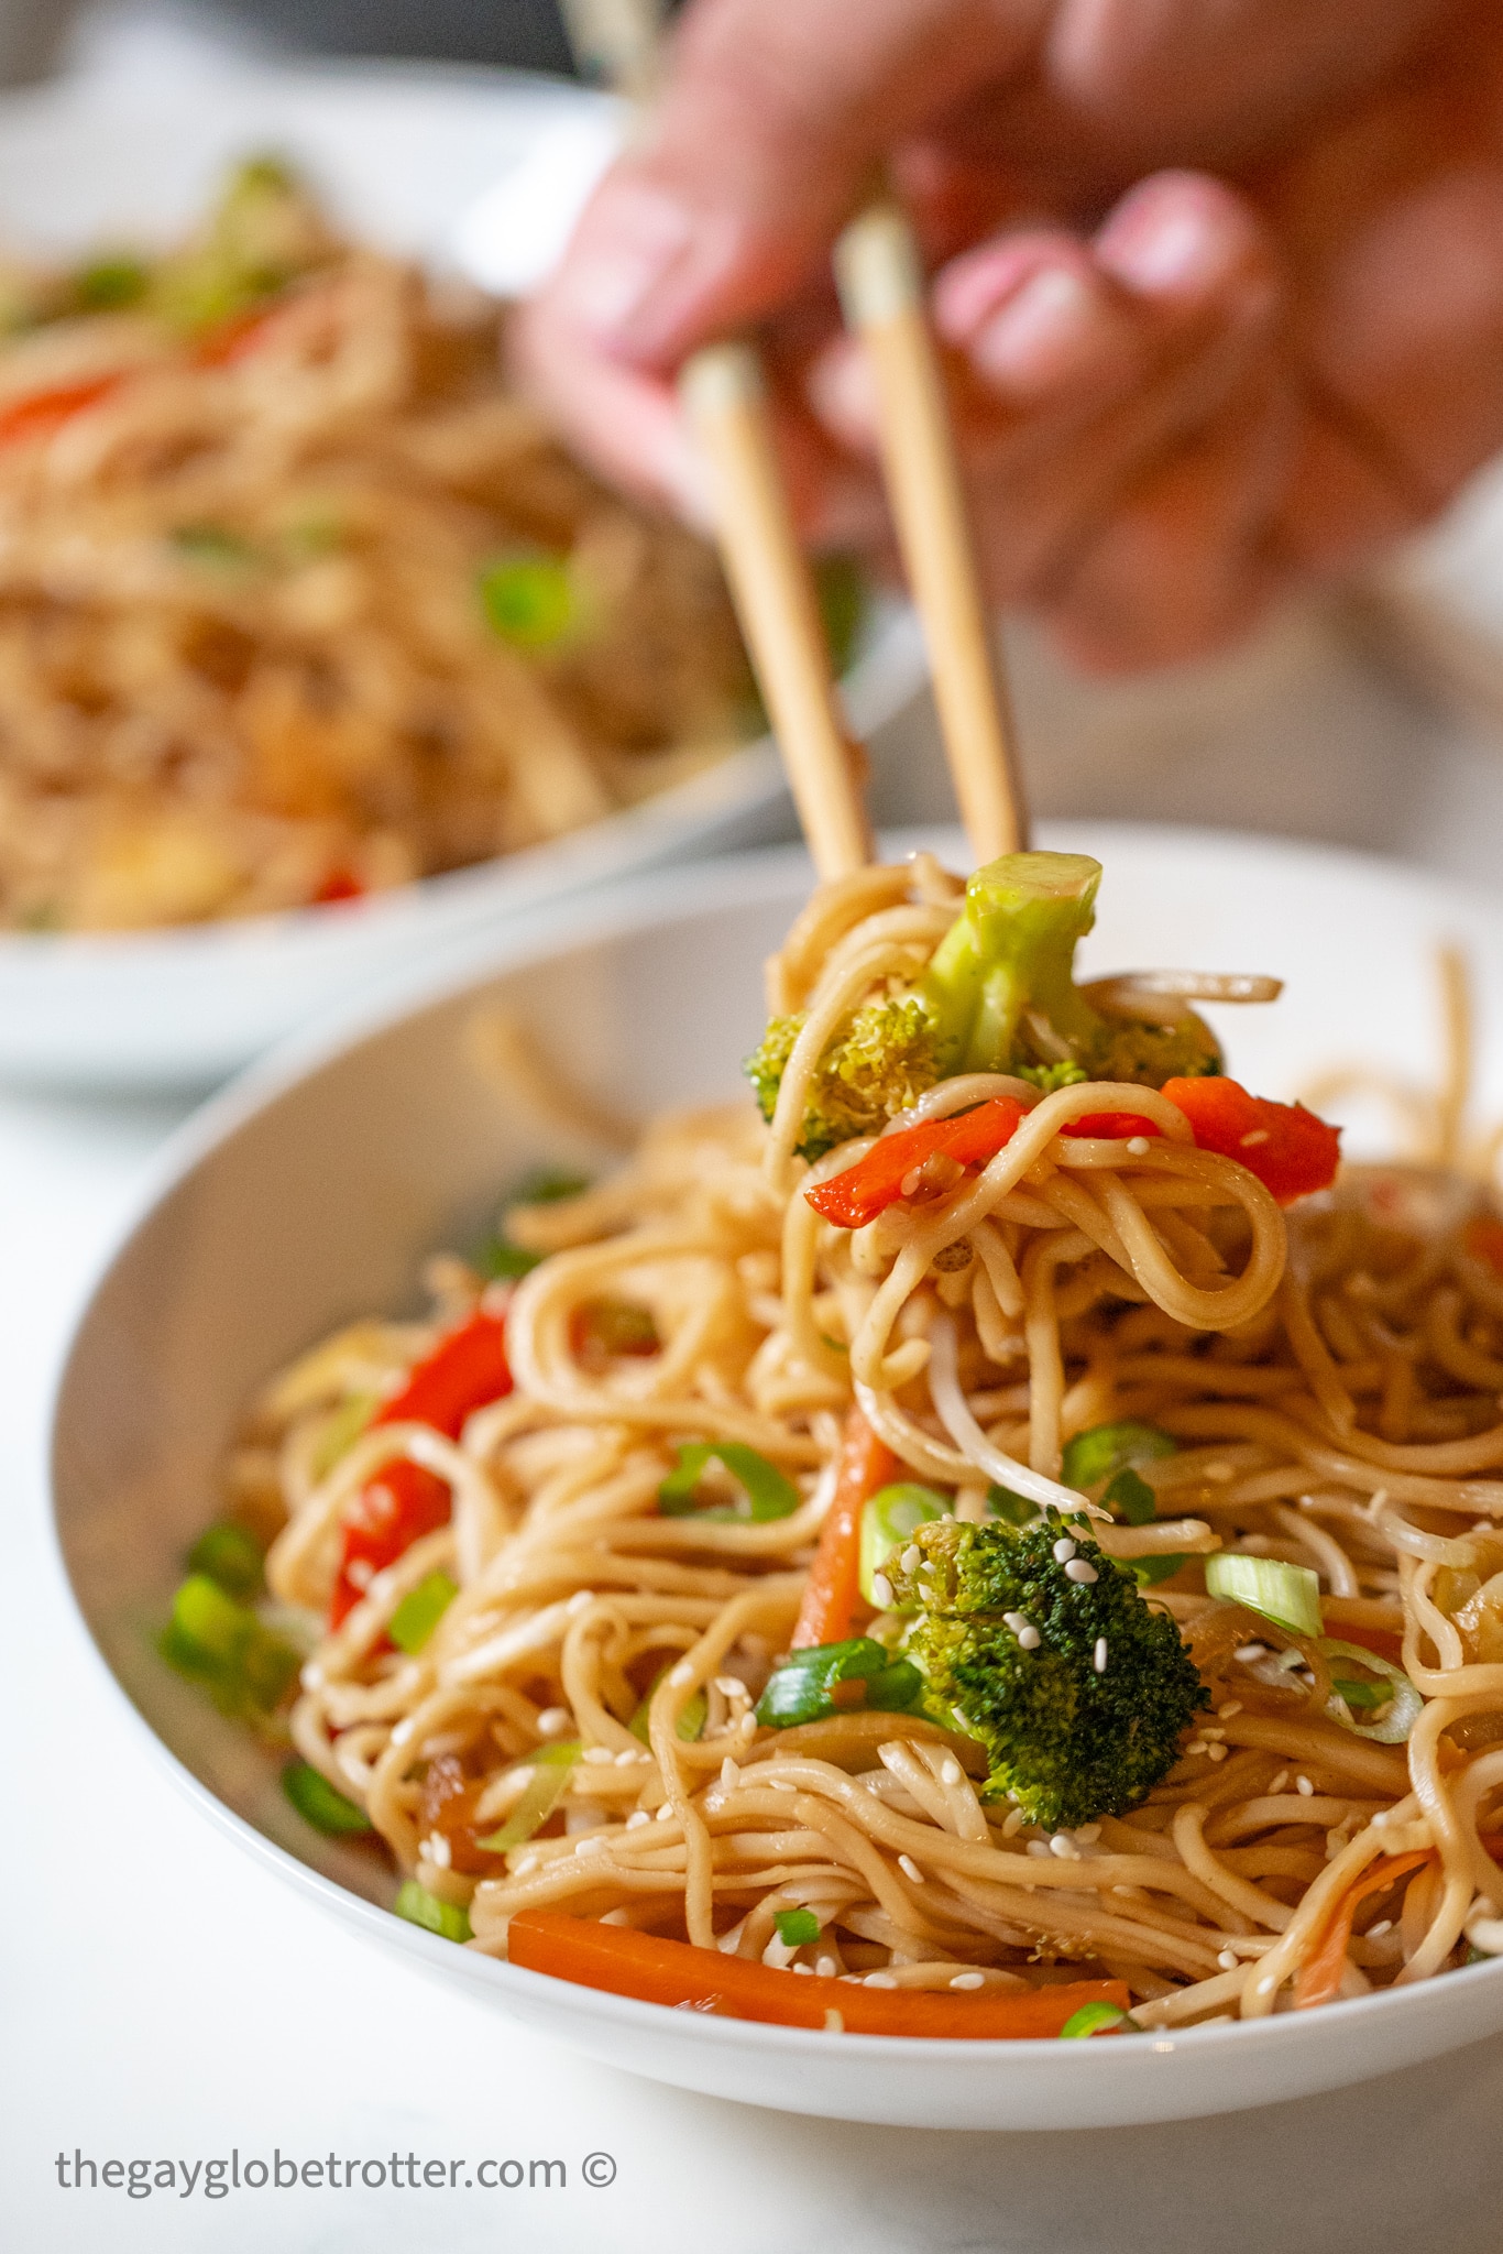
[[[906,216],[868,207],[836,243],[845,322],[872,358],[888,500],[924,622],[960,816],[978,861],[1028,843],[1005,687],[996,667],[944,374]],[[782,480],[762,365],[710,345],[681,376],[714,478],[717,530],[741,633],[822,879],[872,857],[863,753],[845,733],[809,564]]]

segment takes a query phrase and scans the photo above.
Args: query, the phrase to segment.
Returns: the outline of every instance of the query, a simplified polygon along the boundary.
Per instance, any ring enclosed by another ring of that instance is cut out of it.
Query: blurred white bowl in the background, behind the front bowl
[[[0,97],[0,248],[160,241],[203,210],[225,165],[277,149],[352,232],[444,264],[475,196],[548,178],[606,104],[505,72],[239,70]],[[548,214],[539,212],[539,225]],[[872,606],[845,681],[870,737],[917,694],[906,604]],[[793,834],[768,737],[588,829],[376,899],[146,933],[0,935],[0,1080],[90,1089],[210,1086],[322,1010],[473,931],[606,879]]]

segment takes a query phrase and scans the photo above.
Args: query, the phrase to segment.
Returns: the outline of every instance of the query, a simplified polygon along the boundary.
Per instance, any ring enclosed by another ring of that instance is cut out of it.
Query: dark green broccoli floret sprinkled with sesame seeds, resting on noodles
[[[1055,1555],[1066,1535],[1093,1580]],[[895,1609],[915,1614],[901,1652],[924,1675],[926,1711],[949,1727],[964,1718],[987,1749],[982,1799],[1012,1794],[1052,1830],[1151,1792],[1210,1693],[1129,1567],[1055,1510],[1023,1533],[944,1517],[908,1539],[913,1567],[908,1548],[886,1567]]]

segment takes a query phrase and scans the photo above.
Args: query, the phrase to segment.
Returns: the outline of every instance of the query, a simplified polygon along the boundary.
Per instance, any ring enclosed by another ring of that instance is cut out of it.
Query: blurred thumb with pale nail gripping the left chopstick
[[[595,192],[550,313],[672,365],[822,275],[872,162],[1014,70],[1048,0],[696,0],[649,137]]]

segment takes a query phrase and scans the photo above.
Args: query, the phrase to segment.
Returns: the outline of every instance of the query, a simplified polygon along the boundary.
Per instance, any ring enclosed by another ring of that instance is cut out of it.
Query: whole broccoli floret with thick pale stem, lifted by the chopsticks
[[[1075,944],[1095,920],[1102,863],[1014,852],[976,870],[964,908],[917,985],[863,1003],[820,1057],[798,1150],[818,1159],[881,1134],[924,1089],[953,1073],[1014,1073],[1046,1095],[1077,1080],[1165,1080],[1221,1071],[1210,1028],[1097,1008],[1075,985]],[[775,1017],[746,1059],[771,1120],[800,1017]]]

